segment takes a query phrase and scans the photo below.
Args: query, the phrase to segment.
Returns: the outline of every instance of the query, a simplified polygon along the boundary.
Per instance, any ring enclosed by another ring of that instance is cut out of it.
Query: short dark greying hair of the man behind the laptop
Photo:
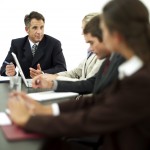
[[[42,14],[32,11],[30,14],[27,14],[24,17],[25,26],[29,27],[32,19],[43,20],[43,22],[45,22],[45,18]]]

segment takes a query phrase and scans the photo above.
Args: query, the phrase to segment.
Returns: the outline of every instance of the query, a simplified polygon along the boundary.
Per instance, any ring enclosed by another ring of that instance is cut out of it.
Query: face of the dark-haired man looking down
[[[98,59],[103,59],[110,55],[110,52],[106,49],[103,42],[100,42],[97,37],[91,35],[91,33],[84,34],[86,43],[90,44],[90,50],[94,52]]]

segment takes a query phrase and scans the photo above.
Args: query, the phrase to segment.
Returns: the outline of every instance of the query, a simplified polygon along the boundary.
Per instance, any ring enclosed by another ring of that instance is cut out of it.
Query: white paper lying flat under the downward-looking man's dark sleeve
[[[29,93],[28,95],[37,101],[46,101],[46,100],[55,100],[61,98],[71,98],[79,94],[74,92],[45,91],[45,92],[38,92],[38,93]]]

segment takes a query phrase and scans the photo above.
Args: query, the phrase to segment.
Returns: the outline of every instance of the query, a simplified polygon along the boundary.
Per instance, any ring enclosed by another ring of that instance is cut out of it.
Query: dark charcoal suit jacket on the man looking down
[[[124,62],[124,58],[118,54],[114,54],[111,60],[111,64],[105,75],[103,74],[103,68],[106,61],[103,62],[97,74],[87,80],[82,81],[58,81],[56,92],[77,92],[80,94],[99,93],[105,87],[111,84],[113,80],[118,77],[118,66]]]

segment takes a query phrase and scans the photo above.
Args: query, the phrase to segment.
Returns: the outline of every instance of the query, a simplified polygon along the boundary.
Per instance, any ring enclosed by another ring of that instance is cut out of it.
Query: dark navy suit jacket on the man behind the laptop
[[[32,56],[31,47],[28,36],[14,39],[11,42],[10,51],[6,57],[6,61],[14,62],[11,53],[14,52],[20,62],[22,70],[26,78],[30,78],[29,68],[37,67],[39,63],[42,71],[45,73],[58,73],[66,70],[66,62],[61,49],[61,43],[57,39],[44,35],[39,43],[35,56]],[[1,67],[1,75],[5,74],[6,64]]]

